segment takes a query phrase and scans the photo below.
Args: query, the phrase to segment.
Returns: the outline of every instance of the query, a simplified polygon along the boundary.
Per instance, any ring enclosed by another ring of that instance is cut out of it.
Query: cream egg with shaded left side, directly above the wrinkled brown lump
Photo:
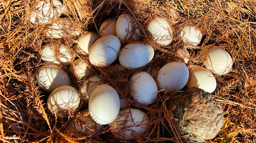
[[[187,83],[188,88],[198,87],[209,93],[215,90],[216,79],[210,71],[198,65],[190,65],[188,68],[192,71]]]

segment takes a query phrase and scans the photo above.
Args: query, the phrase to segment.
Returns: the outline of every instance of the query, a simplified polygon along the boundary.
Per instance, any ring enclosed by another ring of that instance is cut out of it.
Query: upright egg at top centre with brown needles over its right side
[[[128,40],[131,37],[132,17],[129,14],[121,14],[117,19],[116,34],[121,40]]]

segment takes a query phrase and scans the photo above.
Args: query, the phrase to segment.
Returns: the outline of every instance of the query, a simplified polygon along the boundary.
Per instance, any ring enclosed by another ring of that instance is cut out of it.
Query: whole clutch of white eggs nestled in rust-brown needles
[[[49,25],[46,36],[58,40],[63,39],[66,36],[64,33],[68,32],[69,35],[76,37],[74,49],[86,57],[87,62],[80,58],[71,62],[72,52],[63,44],[47,43],[42,46],[41,58],[51,64],[40,67],[36,79],[40,88],[50,93],[47,100],[48,114],[57,114],[65,118],[70,111],[78,109],[83,98],[89,104],[88,109],[82,113],[88,116],[79,116],[79,121],[74,120],[75,130],[93,135],[100,133],[103,125],[110,124],[113,135],[119,139],[132,140],[136,135],[143,134],[148,128],[147,114],[136,108],[129,109],[128,103],[118,95],[115,88],[104,83],[90,68],[106,67],[115,62],[115,70],[122,71],[138,69],[152,61],[155,55],[154,47],[150,43],[136,42],[143,34],[134,17],[124,13],[117,19],[104,21],[98,34],[80,33],[79,29],[72,28],[71,19],[59,18],[65,11],[61,2],[53,0],[53,5],[60,10],[56,11],[44,1],[39,3],[38,11],[32,13],[30,21],[45,24],[55,20]],[[171,27],[171,23],[163,17],[154,17],[146,24],[150,40],[163,48],[172,43]],[[153,68],[150,67],[147,71],[133,73],[127,88],[130,89],[130,96],[138,104],[150,105],[158,98],[159,91],[171,94],[185,86],[199,87],[212,93],[216,88],[214,74],[227,74],[232,68],[231,56],[217,45],[202,49],[205,61],[203,66],[187,65],[190,54],[186,48],[200,44],[202,33],[193,24],[182,24],[175,28],[181,29],[180,37],[187,43],[186,47],[176,53],[184,60],[166,60],[154,72],[151,72]],[[126,41],[133,42],[125,44]],[[88,78],[79,89],[75,89],[69,74],[56,66],[58,64],[69,66],[69,72],[75,73],[78,79]]]

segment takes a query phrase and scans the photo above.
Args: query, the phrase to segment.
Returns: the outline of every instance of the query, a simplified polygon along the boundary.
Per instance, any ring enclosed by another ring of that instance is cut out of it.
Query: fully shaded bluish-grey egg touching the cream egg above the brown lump
[[[158,72],[159,90],[166,89],[167,93],[179,91],[186,85],[188,77],[189,71],[184,63],[177,61],[167,63]]]

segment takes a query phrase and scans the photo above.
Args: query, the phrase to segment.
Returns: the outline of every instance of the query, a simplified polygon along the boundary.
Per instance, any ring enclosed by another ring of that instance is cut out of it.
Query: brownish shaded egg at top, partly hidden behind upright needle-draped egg
[[[116,34],[116,24],[117,24],[117,20],[112,18],[112,19],[107,19],[106,21],[104,21],[100,27],[99,27],[99,36],[103,37],[106,35],[115,35]]]

